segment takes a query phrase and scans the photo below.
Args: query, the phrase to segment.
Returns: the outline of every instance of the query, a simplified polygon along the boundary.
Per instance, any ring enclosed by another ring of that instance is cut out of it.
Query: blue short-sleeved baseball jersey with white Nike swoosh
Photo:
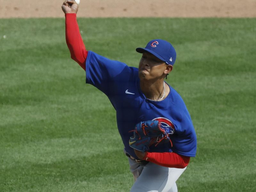
[[[138,68],[109,60],[89,51],[86,59],[86,83],[104,92],[116,109],[118,131],[125,150],[137,157],[129,146],[131,130],[137,123],[158,120],[171,130],[173,146],[160,142],[150,146],[149,152],[175,152],[183,156],[196,156],[196,133],[180,95],[169,85],[170,93],[161,101],[148,100],[140,90]]]

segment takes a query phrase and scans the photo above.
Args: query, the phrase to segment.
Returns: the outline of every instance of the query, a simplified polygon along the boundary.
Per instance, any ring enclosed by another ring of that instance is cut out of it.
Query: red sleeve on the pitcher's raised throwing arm
[[[76,14],[67,13],[65,14],[65,18],[66,42],[70,51],[71,58],[85,70],[85,61],[88,51],[85,49],[84,42],[79,31],[79,27],[76,21]]]

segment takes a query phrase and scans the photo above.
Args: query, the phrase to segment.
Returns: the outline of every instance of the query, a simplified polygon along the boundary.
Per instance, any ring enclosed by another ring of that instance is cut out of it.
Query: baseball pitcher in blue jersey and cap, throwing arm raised
[[[196,156],[196,133],[178,92],[164,78],[176,51],[162,39],[139,47],[138,68],[87,51],[76,21],[78,4],[64,1],[66,42],[86,71],[86,83],[104,92],[116,110],[118,131],[134,177],[131,192],[176,192],[176,180]]]

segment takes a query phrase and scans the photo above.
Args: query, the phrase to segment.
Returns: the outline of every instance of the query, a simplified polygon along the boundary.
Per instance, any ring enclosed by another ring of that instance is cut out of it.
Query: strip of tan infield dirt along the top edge
[[[0,18],[63,17],[64,0],[0,0]],[[256,0],[81,0],[78,17],[256,17]]]

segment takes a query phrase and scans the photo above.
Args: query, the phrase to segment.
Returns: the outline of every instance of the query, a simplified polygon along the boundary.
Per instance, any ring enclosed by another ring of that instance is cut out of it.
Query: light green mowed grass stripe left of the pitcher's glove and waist
[[[10,147],[2,153],[4,165],[2,168],[22,166],[23,164],[51,164],[68,159],[79,157],[92,157],[97,154],[113,153],[115,150],[122,149],[121,138],[116,131],[109,133],[86,132],[81,138],[56,138],[39,140],[23,144],[22,146]],[[105,136],[105,138],[104,138]],[[109,140],[114,136],[112,140]],[[102,143],[95,140],[101,140]],[[68,148],[68,151],[67,151]]]

